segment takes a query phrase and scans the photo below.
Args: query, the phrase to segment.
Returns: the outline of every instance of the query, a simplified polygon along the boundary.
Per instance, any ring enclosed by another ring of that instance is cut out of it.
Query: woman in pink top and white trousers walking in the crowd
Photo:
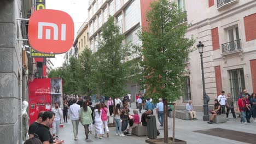
[[[104,125],[105,125],[105,129],[107,131],[107,137],[109,137],[108,116],[107,116],[108,109],[107,109],[107,107],[105,106],[104,103],[101,103],[101,111],[102,111],[102,115],[101,115],[101,121],[102,121],[101,134],[104,135]]]

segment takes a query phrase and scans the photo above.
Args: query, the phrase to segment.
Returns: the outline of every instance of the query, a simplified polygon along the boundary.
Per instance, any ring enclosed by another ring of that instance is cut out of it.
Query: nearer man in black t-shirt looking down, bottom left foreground
[[[61,144],[64,141],[54,142],[53,136],[50,133],[49,125],[53,124],[55,118],[55,113],[52,111],[45,111],[42,117],[42,123],[39,124],[35,135],[43,143],[55,143]]]

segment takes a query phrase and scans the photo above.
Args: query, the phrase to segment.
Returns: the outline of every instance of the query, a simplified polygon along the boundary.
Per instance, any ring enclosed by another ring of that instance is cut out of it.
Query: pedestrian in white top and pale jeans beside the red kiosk
[[[59,103],[55,103],[55,107],[51,109],[55,113],[54,123],[53,123],[53,133],[55,136],[59,136],[60,134],[60,122],[62,116],[62,110],[59,107]]]

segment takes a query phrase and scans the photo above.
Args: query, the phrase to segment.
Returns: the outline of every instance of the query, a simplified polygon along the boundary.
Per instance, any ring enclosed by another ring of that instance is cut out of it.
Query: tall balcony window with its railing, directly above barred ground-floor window
[[[226,29],[228,43],[222,44],[222,52],[232,52],[241,49],[241,40],[239,38],[238,27]]]

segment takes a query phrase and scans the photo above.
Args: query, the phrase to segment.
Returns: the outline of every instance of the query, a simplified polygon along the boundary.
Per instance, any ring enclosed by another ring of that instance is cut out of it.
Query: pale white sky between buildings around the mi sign
[[[88,0],[46,0],[46,9],[62,10],[68,13],[74,21],[74,36],[77,37],[78,29],[87,19]],[[74,38],[75,39],[75,38]],[[64,53],[56,55],[55,58],[50,58],[54,64],[54,68],[62,66],[64,62]]]

